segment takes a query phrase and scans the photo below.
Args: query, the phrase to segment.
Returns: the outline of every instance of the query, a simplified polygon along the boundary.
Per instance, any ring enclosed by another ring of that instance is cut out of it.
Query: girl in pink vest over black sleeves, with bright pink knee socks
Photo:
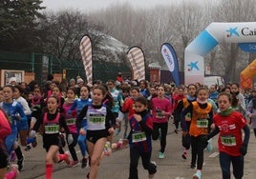
[[[58,150],[61,147],[60,139],[60,129],[65,129],[66,133],[69,135],[70,130],[67,127],[65,118],[61,115],[59,111],[59,98],[56,96],[51,96],[47,100],[47,111],[43,113],[41,118],[36,121],[30,136],[34,137],[37,129],[39,129],[42,124],[44,127],[43,133],[43,147],[46,149],[46,179],[51,179],[53,174],[53,163],[58,163],[64,160],[68,166],[70,166],[70,156],[68,153],[58,154]]]

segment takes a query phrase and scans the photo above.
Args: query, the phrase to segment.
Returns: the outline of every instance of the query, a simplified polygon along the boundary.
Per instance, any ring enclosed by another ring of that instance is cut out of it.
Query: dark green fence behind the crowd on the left
[[[60,60],[52,54],[41,53],[22,53],[14,51],[0,50],[0,69],[1,70],[25,70],[34,73],[34,79],[39,83],[47,79],[49,73],[62,74],[66,71],[66,79],[81,76],[86,79],[82,61]],[[121,71],[124,76],[131,76],[130,68],[120,63],[93,62],[93,78],[107,81],[116,79],[117,72]]]

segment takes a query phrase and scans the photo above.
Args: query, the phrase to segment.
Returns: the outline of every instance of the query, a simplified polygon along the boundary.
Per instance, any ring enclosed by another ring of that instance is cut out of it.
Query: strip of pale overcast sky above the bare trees
[[[139,8],[151,8],[156,5],[170,5],[173,0],[43,0],[46,10],[92,11],[108,8],[111,5],[129,2]]]

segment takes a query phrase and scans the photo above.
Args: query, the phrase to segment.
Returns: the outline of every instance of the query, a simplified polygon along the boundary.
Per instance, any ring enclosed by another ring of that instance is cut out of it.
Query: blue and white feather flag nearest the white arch
[[[170,44],[164,43],[160,48],[160,52],[173,76],[176,86],[180,86],[179,63],[175,50]]]

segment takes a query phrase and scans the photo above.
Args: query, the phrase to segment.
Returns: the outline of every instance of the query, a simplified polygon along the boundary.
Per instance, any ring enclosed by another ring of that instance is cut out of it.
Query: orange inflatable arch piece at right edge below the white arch
[[[240,74],[240,84],[242,89],[252,89],[253,77],[256,76],[256,59],[248,65]]]

